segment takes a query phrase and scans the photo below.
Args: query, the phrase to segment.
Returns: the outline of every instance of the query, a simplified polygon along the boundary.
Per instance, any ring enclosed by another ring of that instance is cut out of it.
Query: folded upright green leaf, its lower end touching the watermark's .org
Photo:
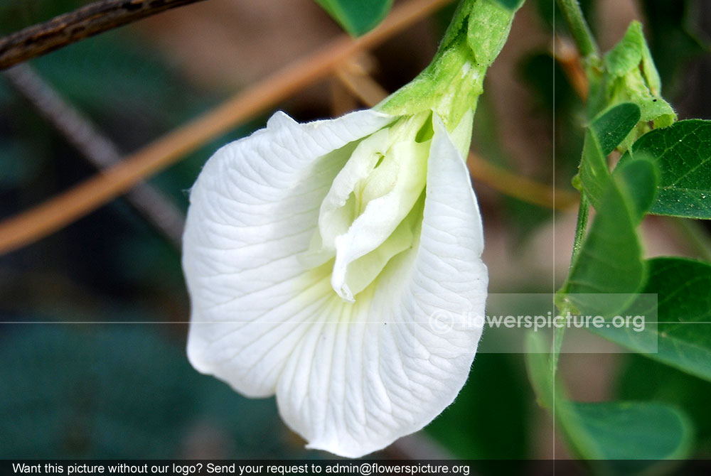
[[[649,161],[629,161],[616,168],[559,293],[559,308],[612,316],[629,305],[630,294],[646,280],[636,227],[651,205],[656,183],[656,170]]]

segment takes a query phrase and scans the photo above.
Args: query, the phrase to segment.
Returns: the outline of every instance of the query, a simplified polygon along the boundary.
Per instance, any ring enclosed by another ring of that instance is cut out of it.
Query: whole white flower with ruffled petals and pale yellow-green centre
[[[450,134],[431,111],[277,112],[220,148],[184,235],[193,366],[276,394],[308,448],[348,457],[451,404],[481,335],[459,318],[483,315],[487,286],[471,117]]]

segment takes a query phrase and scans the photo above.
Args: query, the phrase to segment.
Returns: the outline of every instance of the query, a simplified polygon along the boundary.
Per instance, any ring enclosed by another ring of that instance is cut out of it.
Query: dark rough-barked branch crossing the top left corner
[[[203,0],[100,0],[0,38],[0,69],[176,6]]]

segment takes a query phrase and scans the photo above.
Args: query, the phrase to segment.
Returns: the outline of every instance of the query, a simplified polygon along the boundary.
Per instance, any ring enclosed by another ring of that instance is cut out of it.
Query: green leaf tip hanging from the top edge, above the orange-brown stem
[[[378,26],[392,6],[392,0],[315,1],[353,36],[363,35]]]

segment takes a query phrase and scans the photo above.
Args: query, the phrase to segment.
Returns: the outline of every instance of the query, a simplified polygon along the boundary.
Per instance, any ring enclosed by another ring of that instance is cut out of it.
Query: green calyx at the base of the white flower
[[[386,114],[436,112],[449,131],[474,112],[486,70],[508,38],[521,0],[464,0],[454,14],[437,55],[412,82],[375,109]]]

